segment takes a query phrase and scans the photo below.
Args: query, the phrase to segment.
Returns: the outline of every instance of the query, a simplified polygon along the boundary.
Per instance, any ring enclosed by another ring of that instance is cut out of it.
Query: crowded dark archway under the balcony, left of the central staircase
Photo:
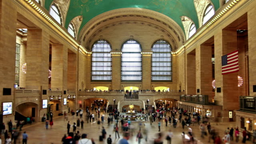
[[[96,111],[98,108],[100,110],[104,110],[105,107],[107,107],[108,100],[105,98],[88,98],[84,99],[84,110],[88,108],[89,111]]]

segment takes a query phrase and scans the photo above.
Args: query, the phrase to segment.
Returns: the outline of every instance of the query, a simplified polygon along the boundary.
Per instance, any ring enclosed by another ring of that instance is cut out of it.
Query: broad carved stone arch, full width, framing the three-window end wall
[[[178,47],[184,43],[184,32],[174,20],[164,14],[141,8],[121,8],[94,17],[82,28],[79,41],[86,46],[90,36],[93,36],[94,32],[100,28],[120,21],[134,22],[134,20],[144,22],[144,24],[154,24],[162,28],[163,32],[169,32]]]

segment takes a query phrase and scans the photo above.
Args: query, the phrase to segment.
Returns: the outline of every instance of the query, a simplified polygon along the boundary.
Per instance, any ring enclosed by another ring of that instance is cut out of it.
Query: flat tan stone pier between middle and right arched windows
[[[151,90],[151,55],[142,54],[142,90]]]

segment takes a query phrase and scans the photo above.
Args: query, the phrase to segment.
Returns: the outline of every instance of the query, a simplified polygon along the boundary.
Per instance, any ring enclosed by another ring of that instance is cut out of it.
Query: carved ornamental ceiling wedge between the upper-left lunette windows
[[[63,22],[63,25],[65,26],[66,16],[67,16],[67,13],[68,13],[70,0],[54,0],[53,3],[55,3],[59,6],[60,11],[62,13],[62,17],[63,17],[62,22]]]

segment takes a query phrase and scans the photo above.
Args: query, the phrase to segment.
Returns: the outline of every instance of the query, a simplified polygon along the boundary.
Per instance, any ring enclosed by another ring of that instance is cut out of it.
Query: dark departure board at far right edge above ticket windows
[[[256,113],[256,96],[240,96],[240,109],[242,112]]]

